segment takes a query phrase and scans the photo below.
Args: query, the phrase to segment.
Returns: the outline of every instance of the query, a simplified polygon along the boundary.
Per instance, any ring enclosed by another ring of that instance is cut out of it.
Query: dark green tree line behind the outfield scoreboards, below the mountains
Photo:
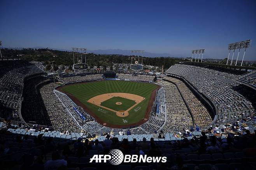
[[[43,62],[44,65],[50,67],[52,62],[55,62],[56,66],[65,65],[72,66],[73,61],[73,52],[72,51],[60,51],[52,49],[2,49],[2,55],[6,58],[21,58],[27,61],[39,61]],[[77,63],[77,57],[81,59],[81,53],[74,53],[75,63]],[[85,59],[85,54],[82,54],[83,62]],[[118,54],[113,55],[104,55],[104,54],[86,54],[86,63],[89,66],[113,66],[113,64],[120,63],[131,63],[132,56],[123,56]],[[140,59],[141,63],[141,59]],[[175,64],[175,59],[170,57],[143,57],[144,65],[157,66],[164,69],[168,69],[170,66]]]

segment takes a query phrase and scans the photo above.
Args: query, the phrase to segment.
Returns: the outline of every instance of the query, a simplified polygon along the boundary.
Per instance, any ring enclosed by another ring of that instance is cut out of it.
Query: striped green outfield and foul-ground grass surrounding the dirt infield
[[[79,101],[82,102],[82,104],[84,104],[101,120],[103,120],[103,122],[110,123],[112,125],[129,125],[144,118],[151,93],[157,87],[158,86],[156,84],[152,83],[113,80],[68,85],[61,87],[61,90],[74,95]],[[94,104],[87,102],[96,95],[115,92],[140,95],[145,97],[145,100],[140,102],[137,106],[135,106],[135,108],[131,109],[129,111],[129,115],[123,118],[116,116],[116,113],[112,111],[100,108],[99,106],[95,106]],[[128,123],[124,123],[124,120],[128,121]]]

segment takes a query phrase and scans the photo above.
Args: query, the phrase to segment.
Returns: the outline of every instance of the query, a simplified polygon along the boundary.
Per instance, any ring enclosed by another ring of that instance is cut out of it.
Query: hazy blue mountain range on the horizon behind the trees
[[[17,49],[20,50],[21,48],[15,48],[15,47],[3,47],[3,48],[8,48],[8,49]],[[46,49],[47,47],[31,47],[32,49]],[[52,50],[60,50],[60,51],[72,51],[72,50],[67,50],[67,49],[56,49],[56,48],[50,48],[48,49]],[[88,53],[95,53],[95,54],[119,54],[119,55],[124,55],[124,56],[130,56],[131,55],[131,50],[121,50],[121,49],[107,49],[107,50],[87,50]],[[143,53],[144,57],[174,57],[171,54],[168,53],[151,53],[151,52],[144,52]],[[177,56],[175,56],[177,57]]]

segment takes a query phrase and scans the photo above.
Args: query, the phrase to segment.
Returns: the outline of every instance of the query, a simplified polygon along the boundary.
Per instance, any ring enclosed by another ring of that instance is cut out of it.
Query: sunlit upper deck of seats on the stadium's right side
[[[207,95],[217,106],[217,123],[246,118],[255,113],[252,103],[247,99],[248,95],[254,93],[248,93],[248,88],[239,86],[235,81],[238,75],[183,64],[171,66],[166,73],[186,78]],[[239,91],[247,93],[242,94]]]

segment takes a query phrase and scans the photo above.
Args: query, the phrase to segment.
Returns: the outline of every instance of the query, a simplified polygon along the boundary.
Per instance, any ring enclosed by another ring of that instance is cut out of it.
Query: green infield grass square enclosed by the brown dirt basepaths
[[[121,102],[121,105],[117,105],[116,102]],[[135,101],[130,99],[125,99],[123,97],[112,97],[109,100],[103,101],[100,105],[105,106],[107,108],[113,109],[115,111],[127,110],[136,104]]]

